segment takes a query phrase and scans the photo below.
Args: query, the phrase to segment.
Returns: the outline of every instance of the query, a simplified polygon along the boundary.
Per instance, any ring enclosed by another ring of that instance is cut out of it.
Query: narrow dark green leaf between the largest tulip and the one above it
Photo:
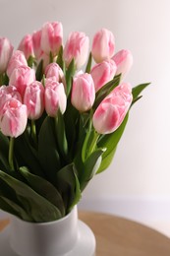
[[[102,88],[98,90],[95,95],[95,102],[93,104],[93,109],[95,110],[99,103],[108,96],[120,83],[121,75],[117,75],[113,80],[109,81]]]

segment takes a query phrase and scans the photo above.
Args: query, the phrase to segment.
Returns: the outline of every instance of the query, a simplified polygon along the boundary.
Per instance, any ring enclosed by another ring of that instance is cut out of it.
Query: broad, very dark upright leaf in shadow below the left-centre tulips
[[[56,172],[61,168],[55,138],[54,118],[47,116],[41,125],[38,137],[38,158],[48,180],[55,184]]]

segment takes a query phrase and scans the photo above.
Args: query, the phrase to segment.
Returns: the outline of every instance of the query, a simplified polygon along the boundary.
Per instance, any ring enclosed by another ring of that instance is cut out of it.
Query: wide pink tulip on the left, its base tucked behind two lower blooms
[[[18,92],[24,97],[25,90],[33,81],[35,81],[35,72],[27,66],[21,66],[14,69],[9,85],[15,86]]]

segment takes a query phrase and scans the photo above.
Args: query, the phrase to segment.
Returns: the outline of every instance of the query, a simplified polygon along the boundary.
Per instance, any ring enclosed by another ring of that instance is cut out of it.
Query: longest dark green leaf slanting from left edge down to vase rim
[[[19,181],[0,170],[0,178],[16,192],[23,209],[36,223],[52,222],[61,218],[57,207],[38,195],[22,181]]]

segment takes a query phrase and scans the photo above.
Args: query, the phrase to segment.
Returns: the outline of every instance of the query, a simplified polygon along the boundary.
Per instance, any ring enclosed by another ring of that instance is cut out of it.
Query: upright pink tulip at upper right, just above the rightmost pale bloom
[[[95,62],[110,59],[114,54],[115,39],[112,32],[102,29],[96,32],[92,40],[91,53]]]

